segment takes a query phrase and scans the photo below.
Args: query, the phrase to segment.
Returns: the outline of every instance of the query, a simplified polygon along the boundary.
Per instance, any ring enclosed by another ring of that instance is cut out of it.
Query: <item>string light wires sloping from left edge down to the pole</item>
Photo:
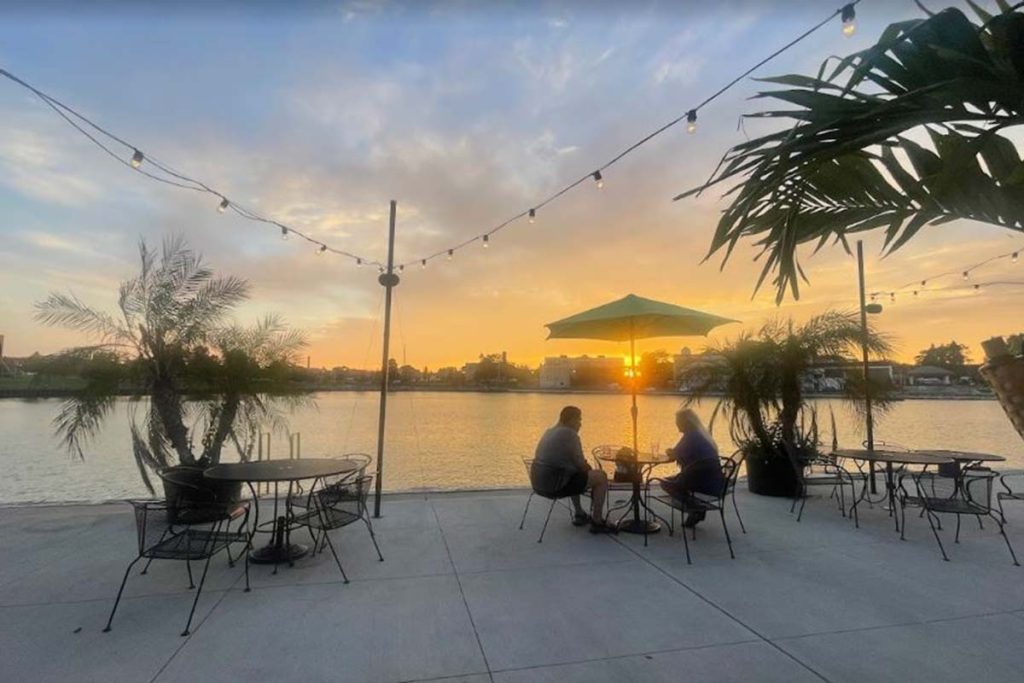
[[[298,230],[290,225],[285,225],[284,223],[268,218],[252,209],[248,209],[238,202],[231,200],[224,193],[213,188],[202,180],[193,178],[185,173],[174,169],[170,164],[161,161],[159,158],[153,156],[152,154],[146,154],[142,147],[139,147],[127,140],[115,135],[111,131],[106,130],[99,124],[95,123],[85,115],[79,113],[72,106],[63,103],[59,99],[49,95],[39,88],[36,88],[32,84],[28,83],[22,78],[11,74],[5,69],[0,69],[0,76],[6,78],[7,80],[16,83],[17,85],[26,88],[34,95],[36,95],[44,104],[49,106],[53,112],[57,114],[68,125],[81,133],[86,139],[92,142],[94,145],[99,147],[108,156],[119,162],[120,164],[127,166],[132,171],[139,173],[151,180],[156,180],[166,185],[171,185],[173,187],[178,187],[181,189],[190,189],[197,193],[203,193],[207,195],[212,195],[220,200],[218,208],[220,210],[231,209],[239,216],[254,222],[265,223],[267,225],[273,225],[275,227],[285,230],[286,234],[294,234],[302,240],[305,240],[311,245],[316,246],[321,251],[332,252],[340,256],[352,259],[354,261],[361,261],[364,263],[372,263],[374,265],[380,265],[378,261],[370,260],[365,257],[358,256],[351,252],[345,251],[343,249],[337,249],[331,245],[325,244],[319,240],[316,240],[305,232]],[[104,137],[108,140],[120,144],[125,147],[128,153],[131,154],[131,160],[126,160],[113,148],[109,143],[103,142],[100,137]],[[145,169],[144,165],[150,165],[156,169],[159,169],[166,176],[164,177]],[[226,202],[226,205],[225,205]]]

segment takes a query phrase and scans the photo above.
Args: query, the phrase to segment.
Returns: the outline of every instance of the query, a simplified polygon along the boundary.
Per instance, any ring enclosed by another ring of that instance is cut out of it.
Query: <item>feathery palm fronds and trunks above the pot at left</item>
[[[150,470],[175,462],[209,467],[228,439],[246,460],[261,426],[281,427],[282,409],[303,400],[289,388],[287,369],[305,340],[275,316],[251,328],[225,326],[249,285],[214,276],[181,238],[165,241],[159,254],[140,241],[139,257],[139,273],[121,284],[119,315],[54,292],[36,304],[36,318],[96,340],[73,352],[115,350],[129,360],[127,382],[123,372],[86,378],[54,426],[69,452],[83,457],[83,445],[127,389],[132,451],[153,492]]]

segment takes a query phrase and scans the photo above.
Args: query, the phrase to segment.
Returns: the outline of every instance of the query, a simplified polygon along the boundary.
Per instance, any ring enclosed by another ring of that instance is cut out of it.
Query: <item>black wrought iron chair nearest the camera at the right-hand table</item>
[[[1017,554],[1014,552],[1013,546],[1010,545],[1010,539],[1002,527],[1002,521],[992,509],[992,481],[996,476],[998,475],[991,470],[976,469],[963,470],[959,476],[956,477],[928,471],[904,474],[899,479],[898,487],[902,526],[900,540],[906,540],[907,506],[919,505],[928,516],[928,524],[932,528],[936,543],[939,544],[942,559],[948,562],[949,557],[946,555],[946,549],[942,545],[942,539],[939,538],[939,529],[942,528],[941,523],[939,523],[939,515],[956,515],[956,532],[953,537],[953,543],[959,543],[962,516],[972,515],[978,519],[979,524],[981,523],[981,518],[987,516],[991,517],[998,524],[999,533],[1007,543],[1007,548],[1010,550],[1010,556],[1013,558],[1014,564],[1020,566],[1020,563],[1017,561]],[[914,487],[912,492],[908,490],[904,485],[907,477],[913,480]]]

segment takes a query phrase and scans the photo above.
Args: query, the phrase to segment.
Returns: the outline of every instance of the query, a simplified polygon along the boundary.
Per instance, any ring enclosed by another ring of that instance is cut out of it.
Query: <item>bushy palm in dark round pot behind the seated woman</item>
[[[817,415],[804,395],[803,380],[815,362],[849,354],[862,338],[855,313],[827,311],[800,326],[773,321],[756,334],[709,349],[709,361],[684,372],[687,402],[718,395],[710,427],[722,419],[728,422],[733,441],[746,455],[752,493],[798,493],[797,472],[820,445]],[[891,350],[885,338],[870,331],[866,345],[873,354]],[[861,381],[850,378],[846,396],[857,398],[863,389]],[[883,387],[872,384],[871,394],[884,405]]]

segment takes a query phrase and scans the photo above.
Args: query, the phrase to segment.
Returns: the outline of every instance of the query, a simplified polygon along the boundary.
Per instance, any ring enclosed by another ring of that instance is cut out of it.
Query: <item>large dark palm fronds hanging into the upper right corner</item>
[[[1024,124],[1024,2],[998,0],[995,15],[970,4],[980,24],[948,8],[891,25],[827,78],[828,61],[816,77],[766,79],[787,89],[760,97],[798,109],[752,116],[792,127],[733,147],[706,184],[676,197],[738,180],[708,257],[756,241],[757,288],[773,274],[781,301],[806,282],[806,243],[849,252],[850,234],[884,228],[891,253],[956,219],[1024,231],[1024,162],[1007,134]]]

